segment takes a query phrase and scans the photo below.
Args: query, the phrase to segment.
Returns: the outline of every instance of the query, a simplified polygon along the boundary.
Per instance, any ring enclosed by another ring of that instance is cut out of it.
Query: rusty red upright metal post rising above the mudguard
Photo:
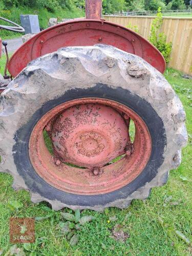
[[[102,1],[86,0],[86,18],[101,19]]]

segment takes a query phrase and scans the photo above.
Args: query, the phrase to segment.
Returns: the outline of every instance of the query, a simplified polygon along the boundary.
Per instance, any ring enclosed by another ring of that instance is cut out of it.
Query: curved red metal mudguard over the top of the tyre
[[[68,46],[106,44],[136,54],[161,73],[165,70],[162,54],[134,31],[105,20],[76,19],[41,31],[29,39],[10,58],[8,70],[15,77],[37,57]]]

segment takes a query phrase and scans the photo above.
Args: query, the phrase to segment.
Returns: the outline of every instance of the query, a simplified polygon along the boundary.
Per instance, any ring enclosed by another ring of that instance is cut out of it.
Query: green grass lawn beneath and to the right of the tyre
[[[179,95],[187,115],[187,131],[192,134],[191,90],[192,81],[181,77],[181,73],[167,69],[166,79]],[[103,213],[91,210],[82,211],[82,215],[93,215],[95,221],[87,223],[78,231],[79,242],[71,247],[65,237],[57,238],[60,211],[54,217],[36,222],[36,243],[32,244],[26,255],[191,255],[191,244],[186,244],[175,233],[181,231],[192,241],[192,141],[183,148],[182,163],[172,170],[166,185],[153,188],[150,197],[144,201],[134,200],[127,209],[108,208]],[[185,180],[185,178],[187,180]],[[0,251],[9,250],[9,218],[47,216],[46,202],[33,204],[29,192],[14,191],[11,187],[12,177],[0,173]],[[170,198],[170,196],[172,198]],[[9,208],[8,203],[17,200],[23,203],[18,210]],[[63,211],[69,211],[65,208]],[[110,217],[116,221],[109,223]],[[125,243],[111,237],[111,229],[119,224],[129,233]],[[17,245],[22,248],[22,244]],[[112,247],[113,246],[113,247]],[[33,252],[32,252],[33,251]],[[31,254],[30,254],[31,252]]]

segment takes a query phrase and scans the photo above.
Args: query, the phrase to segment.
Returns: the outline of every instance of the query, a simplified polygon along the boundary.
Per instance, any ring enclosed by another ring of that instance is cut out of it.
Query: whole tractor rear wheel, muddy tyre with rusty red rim
[[[63,48],[29,63],[3,92],[0,170],[54,209],[124,208],[180,164],[184,122],[172,87],[140,57]]]

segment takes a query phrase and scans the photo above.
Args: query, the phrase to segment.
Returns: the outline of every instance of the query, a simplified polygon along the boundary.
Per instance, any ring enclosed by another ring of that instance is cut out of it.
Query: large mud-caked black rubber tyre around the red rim
[[[29,158],[29,138],[37,121],[55,106],[77,98],[111,99],[132,109],[152,138],[150,160],[131,183],[108,194],[74,195],[40,178]],[[104,45],[67,47],[42,56],[3,92],[0,102],[1,172],[11,173],[14,189],[28,189],[32,202],[54,209],[125,208],[145,199],[167,181],[186,145],[183,106],[162,74],[142,58]]]

